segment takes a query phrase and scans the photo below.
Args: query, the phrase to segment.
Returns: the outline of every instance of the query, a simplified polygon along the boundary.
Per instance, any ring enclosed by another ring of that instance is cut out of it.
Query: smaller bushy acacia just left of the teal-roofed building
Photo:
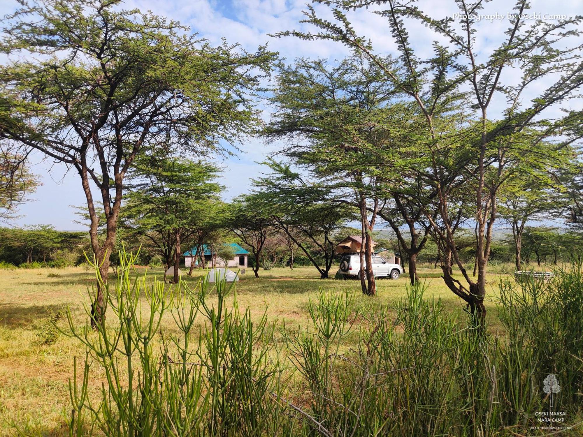
[[[159,248],[166,269],[178,283],[182,242],[198,230],[196,218],[208,214],[223,189],[218,168],[179,157],[139,158],[127,194],[126,224]]]

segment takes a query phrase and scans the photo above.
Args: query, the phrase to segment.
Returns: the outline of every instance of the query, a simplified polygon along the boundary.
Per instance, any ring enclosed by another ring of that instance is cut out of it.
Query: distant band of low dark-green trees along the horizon
[[[342,228],[332,237],[332,244],[337,244],[347,235],[356,234],[353,228]],[[491,249],[491,262],[494,269],[500,263],[510,264],[515,259],[515,246],[510,231],[498,231],[498,239],[493,241]],[[117,251],[124,248],[137,253],[139,251],[138,264],[150,267],[163,266],[167,268],[167,263],[161,259],[159,251],[151,245],[145,245],[144,241],[137,235],[125,234],[115,247],[112,256],[117,257]],[[129,237],[129,238],[128,238]],[[550,265],[570,262],[573,259],[581,258],[583,248],[583,232],[576,230],[564,230],[553,226],[529,226],[524,230],[521,255],[525,263],[525,269],[536,265]],[[59,231],[51,225],[30,225],[22,228],[0,227],[0,268],[10,267],[38,268],[55,267],[64,268],[70,266],[84,265],[86,263],[86,253],[90,253],[90,241],[86,231]],[[398,253],[402,257],[402,264],[407,265],[406,252],[401,250],[398,239],[391,236],[390,231],[378,230],[374,234],[374,241],[377,248],[389,249]],[[407,238],[406,241],[410,241]],[[466,268],[473,269],[475,262],[476,238],[472,229],[462,229],[459,231],[459,252],[462,254]],[[227,255],[220,253],[218,248],[222,243],[237,242],[241,246],[247,245],[237,238],[223,234],[209,238],[209,246],[213,248],[213,254]],[[195,242],[192,242],[195,245]],[[316,245],[307,244],[314,260],[323,264],[324,256],[322,250]],[[248,249],[248,246],[246,247]],[[336,255],[335,261],[342,255]],[[423,250],[417,256],[417,262],[429,264],[427,267],[437,268],[438,253],[434,242],[428,241]],[[255,257],[250,254],[249,264],[255,265]],[[181,263],[184,266],[184,262]],[[208,266],[212,267],[212,260]],[[271,267],[298,267],[311,266],[312,263],[303,253],[297,253],[297,248],[291,248],[286,244],[285,235],[277,233],[266,239],[264,251],[262,252],[259,266],[265,270]],[[198,267],[202,263],[199,259]],[[509,266],[510,267],[510,266]],[[504,268],[501,273],[510,273]]]

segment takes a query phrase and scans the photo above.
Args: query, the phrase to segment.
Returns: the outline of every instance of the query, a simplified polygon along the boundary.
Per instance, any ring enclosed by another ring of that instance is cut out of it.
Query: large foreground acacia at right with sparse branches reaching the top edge
[[[473,3],[456,1],[461,16],[458,22],[451,17],[435,19],[412,3],[399,0],[320,2],[332,5],[332,21],[322,19],[310,7],[304,22],[317,27],[317,32],[284,31],[278,36],[340,41],[369,57],[385,72],[386,80],[407,94],[416,105],[424,121],[417,136],[417,145],[427,160],[414,170],[424,172],[427,181],[437,189],[438,220],[433,220],[427,212],[425,215],[442,244],[447,246],[447,256],[441,263],[444,280],[451,291],[468,303],[476,322],[481,325],[486,315],[483,304],[486,265],[497,217],[497,197],[507,177],[505,170],[517,162],[524,162],[520,159],[522,157],[535,156],[536,150],[531,147],[533,144],[563,133],[566,126],[578,124],[581,119],[581,111],[570,112],[557,119],[547,110],[576,95],[581,86],[583,64],[575,60],[580,46],[570,43],[570,37],[578,36],[577,26],[582,18],[577,16],[557,22],[533,20],[529,24],[524,16],[529,3],[518,0],[514,6],[515,15],[509,19],[505,40],[496,50],[485,54],[475,50],[476,16],[483,8],[482,0]],[[343,12],[343,9],[364,7],[372,8],[374,13],[387,18],[403,66],[399,71],[395,71],[392,63],[387,64],[366,38],[356,33]],[[419,58],[409,39],[410,29],[405,19],[429,26],[437,37],[444,38],[448,43],[434,41],[433,56]],[[484,59],[479,59],[481,57]],[[509,68],[514,69],[514,75],[516,72],[521,75],[516,85],[503,83],[503,72]],[[550,86],[546,86],[547,80],[551,81]],[[541,86],[542,83],[545,85]],[[538,92],[541,88],[542,93]],[[524,98],[529,91],[536,95],[532,100]],[[491,123],[489,111],[493,101],[500,98],[507,101],[507,106],[498,114],[501,119]],[[452,101],[467,103],[465,111],[468,111],[466,119],[458,117],[456,138],[449,135],[451,126],[440,122],[440,119],[447,119],[444,116],[448,114]],[[531,139],[524,141],[515,138],[525,128],[535,128]],[[577,138],[581,138],[581,132],[564,141],[557,141],[556,147],[560,149]],[[470,159],[451,160],[453,150],[460,149],[459,146],[462,147],[456,155]],[[464,160],[465,165],[458,165]],[[475,189],[477,280],[466,272],[451,228],[451,223],[456,220],[449,214],[449,188],[456,185],[458,178],[471,181],[469,186]],[[451,265],[448,262],[458,266],[465,284],[449,273]]]

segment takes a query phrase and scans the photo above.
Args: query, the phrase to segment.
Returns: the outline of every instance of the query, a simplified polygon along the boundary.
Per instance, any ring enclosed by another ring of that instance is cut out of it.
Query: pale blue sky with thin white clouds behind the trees
[[[456,12],[453,0],[420,0],[417,4],[434,17],[451,16]],[[158,15],[180,20],[182,24],[190,26],[193,32],[208,38],[212,43],[220,43],[220,38],[225,37],[229,43],[240,43],[248,50],[269,43],[269,48],[279,51],[287,61],[293,61],[297,57],[325,58],[333,61],[348,54],[341,44],[268,36],[269,33],[280,30],[308,30],[308,27],[298,23],[302,18],[302,11],[305,10],[305,0],[128,0],[125,5],[127,8],[152,10]],[[536,0],[532,2],[530,12],[571,16],[582,12],[581,5],[581,0],[560,2]],[[511,6],[512,2],[494,0],[486,3],[483,13],[504,15],[512,12]],[[16,2],[0,0],[1,15],[10,13],[15,8]],[[318,5],[317,9],[322,16],[329,15],[327,8]],[[396,45],[392,41],[385,19],[371,13],[370,10],[350,12],[349,17],[359,34],[371,38],[375,50],[395,54]],[[417,54],[420,57],[429,55],[431,41],[436,38],[435,35],[418,23],[411,25],[409,33]],[[506,28],[505,20],[492,22],[483,20],[479,23],[476,40],[479,56],[485,57],[494,50],[504,37]],[[518,76],[512,77],[512,71],[509,70],[504,79],[509,83],[517,80]],[[577,105],[581,105],[581,100],[563,106],[575,108]],[[497,108],[501,110],[502,107],[502,101],[494,102],[491,117],[496,117]],[[261,108],[265,110],[264,118],[268,119],[269,108],[265,104],[261,104]],[[247,191],[250,186],[249,179],[257,177],[262,171],[261,166],[255,162],[264,160],[265,156],[278,149],[278,145],[265,145],[257,138],[250,138],[237,146],[240,147],[241,153],[218,161],[224,168],[222,184],[227,186],[226,199]],[[20,207],[19,214],[22,217],[12,224],[52,224],[61,230],[82,229],[82,225],[74,223],[75,210],[71,207],[85,203],[78,175],[73,172],[66,173],[66,169],[59,164],[51,167],[51,164],[44,162],[41,156],[33,156],[31,164],[43,185],[30,196],[30,202]]]

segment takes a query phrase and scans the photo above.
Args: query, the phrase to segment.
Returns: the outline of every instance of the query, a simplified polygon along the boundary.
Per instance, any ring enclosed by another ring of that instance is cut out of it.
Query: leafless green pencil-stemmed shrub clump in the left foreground
[[[102,284],[115,326],[75,326],[66,315],[69,330],[86,346],[82,378],[75,366],[70,385],[73,435],[99,429],[106,435],[158,435],[173,430],[184,435],[277,434],[280,408],[272,394],[277,389],[278,365],[268,360],[272,330],[264,317],[251,322],[249,310],[241,313],[234,283],[199,282],[194,288],[179,283],[167,289],[145,277],[131,279],[135,256],[120,253],[115,286]],[[101,281],[99,269],[97,279]],[[210,294],[217,297],[210,303]],[[147,309],[141,305],[145,294]],[[227,298],[233,302],[227,305]],[[174,319],[171,329],[161,329],[164,312]],[[199,323],[202,322],[202,325]],[[163,348],[151,343],[161,335]],[[89,369],[97,364],[107,381],[99,405],[89,400]],[[121,379],[127,369],[127,380]]]

